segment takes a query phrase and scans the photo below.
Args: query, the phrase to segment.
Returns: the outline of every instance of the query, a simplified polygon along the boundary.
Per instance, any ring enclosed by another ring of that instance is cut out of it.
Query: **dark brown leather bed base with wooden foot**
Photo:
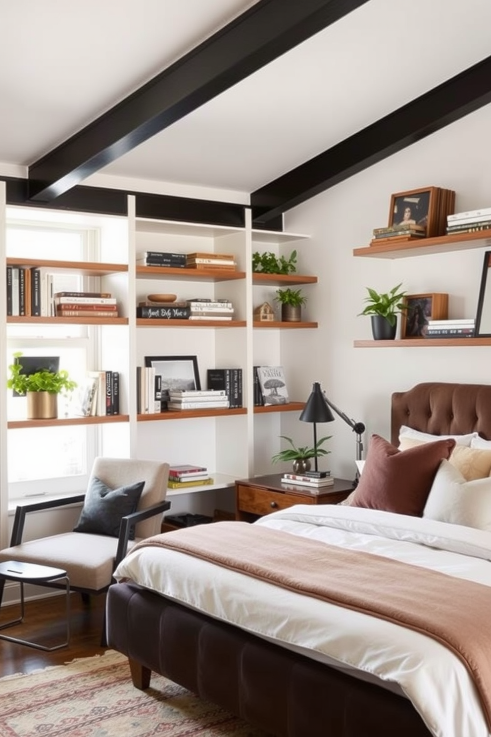
[[[430,736],[407,699],[136,584],[110,587],[107,641],[275,737]]]

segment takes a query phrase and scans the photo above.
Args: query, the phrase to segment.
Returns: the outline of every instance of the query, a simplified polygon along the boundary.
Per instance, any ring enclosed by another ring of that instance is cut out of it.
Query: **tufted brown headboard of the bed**
[[[400,425],[432,435],[478,432],[491,440],[491,385],[428,382],[392,394],[391,439]]]

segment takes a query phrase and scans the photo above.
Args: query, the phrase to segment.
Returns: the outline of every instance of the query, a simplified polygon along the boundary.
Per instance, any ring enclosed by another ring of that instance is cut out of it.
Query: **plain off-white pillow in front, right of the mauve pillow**
[[[465,481],[448,461],[435,475],[423,517],[491,531],[491,478]]]

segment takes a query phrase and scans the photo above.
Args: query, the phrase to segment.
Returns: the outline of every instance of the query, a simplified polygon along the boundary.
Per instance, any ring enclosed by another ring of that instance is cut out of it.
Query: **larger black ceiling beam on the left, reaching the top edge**
[[[368,0],[259,0],[29,167],[50,201]]]

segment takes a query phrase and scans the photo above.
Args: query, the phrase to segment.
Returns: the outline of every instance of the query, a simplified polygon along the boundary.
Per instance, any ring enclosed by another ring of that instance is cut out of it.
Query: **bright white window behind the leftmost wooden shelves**
[[[32,217],[32,216],[31,216]],[[96,258],[97,228],[53,221],[7,220],[7,256],[32,259],[88,261]],[[80,291],[96,287],[94,280],[76,273],[54,273],[54,290]],[[9,324],[7,326],[7,364],[13,354],[57,356],[60,368],[80,383],[89,366],[97,364],[98,328],[83,325]],[[25,397],[7,392],[9,419],[24,419]],[[63,416],[66,403],[58,399]],[[9,430],[7,433],[8,481],[10,499],[38,495],[83,492],[88,473],[97,455],[99,431],[95,425],[43,427]]]

